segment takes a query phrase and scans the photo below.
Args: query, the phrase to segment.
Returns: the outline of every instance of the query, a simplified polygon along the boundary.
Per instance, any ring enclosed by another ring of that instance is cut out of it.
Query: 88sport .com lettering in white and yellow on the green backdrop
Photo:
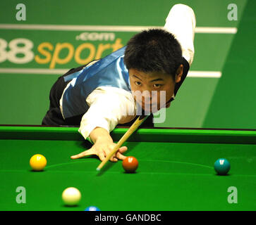
[[[42,37],[40,38],[42,39]],[[1,67],[66,68],[85,65],[121,49],[122,38],[114,33],[83,32],[74,35],[71,41],[37,41],[37,39],[0,38]],[[38,44],[37,44],[38,43]],[[69,65],[70,64],[70,65]]]

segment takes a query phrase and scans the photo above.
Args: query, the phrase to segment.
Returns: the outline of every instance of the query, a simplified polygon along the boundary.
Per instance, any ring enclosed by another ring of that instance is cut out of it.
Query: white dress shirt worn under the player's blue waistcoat
[[[183,4],[173,6],[166,18],[164,30],[171,32],[176,37],[181,44],[183,57],[191,65],[194,57],[193,41],[195,35],[193,9]],[[66,89],[71,85],[71,82],[68,83]],[[95,127],[102,127],[110,132],[117,124],[129,122],[136,116],[136,103],[133,95],[116,87],[99,86],[87,97],[86,102],[90,108],[83,115],[78,129],[85,139],[89,138],[90,132]],[[62,113],[62,97],[60,108]]]

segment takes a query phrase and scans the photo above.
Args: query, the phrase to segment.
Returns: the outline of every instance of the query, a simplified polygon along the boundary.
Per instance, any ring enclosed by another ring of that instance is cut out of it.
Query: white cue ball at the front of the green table
[[[65,205],[78,205],[81,199],[81,193],[78,188],[66,188],[62,193],[62,200]]]

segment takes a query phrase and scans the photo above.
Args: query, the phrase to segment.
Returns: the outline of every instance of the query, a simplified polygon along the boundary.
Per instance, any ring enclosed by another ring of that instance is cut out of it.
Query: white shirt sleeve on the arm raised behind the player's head
[[[192,8],[176,4],[166,18],[164,29],[171,32],[181,44],[183,57],[191,65],[194,58],[195,13]]]

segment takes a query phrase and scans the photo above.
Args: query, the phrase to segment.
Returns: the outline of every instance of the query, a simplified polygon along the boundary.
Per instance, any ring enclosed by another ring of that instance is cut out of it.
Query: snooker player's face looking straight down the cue
[[[164,72],[141,72],[130,68],[130,89],[133,92],[137,91],[136,93],[141,93],[141,95],[133,94],[135,101],[141,105],[143,110],[145,110],[145,107],[148,108],[150,106],[152,109],[157,108],[157,110],[160,108],[169,108],[175,84],[181,80],[182,69],[181,65],[179,70],[177,70],[181,74],[177,74],[176,80],[173,81],[171,75],[167,75]],[[146,95],[143,94],[143,91],[146,91]],[[160,91],[165,91],[166,97],[164,101],[160,99]]]

